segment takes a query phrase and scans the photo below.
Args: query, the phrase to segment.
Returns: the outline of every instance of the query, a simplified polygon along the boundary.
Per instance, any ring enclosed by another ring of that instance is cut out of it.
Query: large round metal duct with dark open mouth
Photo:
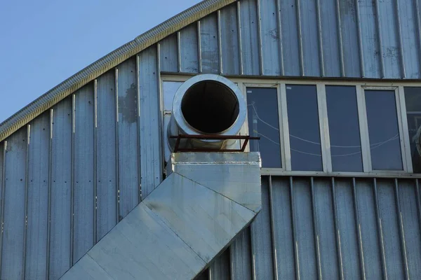
[[[236,135],[246,120],[246,100],[234,83],[214,74],[190,78],[175,92],[168,136]],[[183,148],[227,148],[235,141],[183,140]],[[175,139],[169,138],[171,150]]]

